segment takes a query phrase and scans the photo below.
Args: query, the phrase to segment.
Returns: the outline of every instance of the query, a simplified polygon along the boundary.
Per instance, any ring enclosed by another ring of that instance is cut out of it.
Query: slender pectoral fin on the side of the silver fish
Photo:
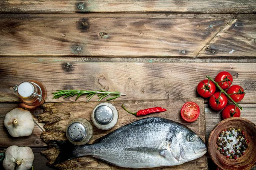
[[[140,153],[147,153],[147,154],[151,154],[154,156],[162,156],[163,158],[166,157],[166,152],[167,149],[157,149],[157,148],[152,148],[152,147],[129,147],[126,148],[125,150],[127,151],[137,151]]]

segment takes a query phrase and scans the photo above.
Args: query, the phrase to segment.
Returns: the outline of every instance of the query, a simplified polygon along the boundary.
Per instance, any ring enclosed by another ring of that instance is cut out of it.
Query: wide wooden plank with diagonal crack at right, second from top
[[[255,57],[253,19],[111,16],[1,17],[0,56]]]

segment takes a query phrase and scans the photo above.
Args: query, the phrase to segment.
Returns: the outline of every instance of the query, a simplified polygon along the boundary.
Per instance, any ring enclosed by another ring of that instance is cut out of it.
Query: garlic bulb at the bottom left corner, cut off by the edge
[[[29,170],[33,161],[34,154],[30,147],[13,145],[6,149],[3,167],[5,170]]]

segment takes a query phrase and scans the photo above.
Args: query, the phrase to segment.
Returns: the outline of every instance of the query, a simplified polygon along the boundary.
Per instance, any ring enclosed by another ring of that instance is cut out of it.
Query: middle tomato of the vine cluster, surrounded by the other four
[[[227,97],[224,93],[216,92],[209,99],[209,105],[216,111],[220,111],[227,105]]]

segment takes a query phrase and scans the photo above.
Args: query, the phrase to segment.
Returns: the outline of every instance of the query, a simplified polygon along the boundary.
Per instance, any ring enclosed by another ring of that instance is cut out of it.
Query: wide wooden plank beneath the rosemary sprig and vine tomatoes
[[[40,60],[40,58],[38,58]],[[18,102],[12,86],[29,79],[42,82],[47,102],[70,102],[73,98],[52,99],[56,90],[79,89],[119,91],[127,94],[117,100],[175,99],[198,96],[196,87],[208,74],[220,71],[233,75],[246,95],[241,103],[256,103],[256,63],[130,63],[130,62],[0,62],[0,102]],[[80,96],[78,101],[86,101]],[[96,101],[93,97],[91,101]]]

